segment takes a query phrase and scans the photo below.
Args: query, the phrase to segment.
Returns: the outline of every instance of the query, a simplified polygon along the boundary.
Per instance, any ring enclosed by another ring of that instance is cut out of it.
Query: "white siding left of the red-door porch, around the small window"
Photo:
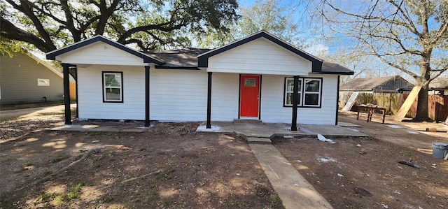
[[[102,71],[123,71],[123,103],[103,102]],[[144,76],[144,66],[78,68],[79,117],[144,120]],[[207,73],[151,69],[150,79],[150,120],[182,122],[207,119]]]

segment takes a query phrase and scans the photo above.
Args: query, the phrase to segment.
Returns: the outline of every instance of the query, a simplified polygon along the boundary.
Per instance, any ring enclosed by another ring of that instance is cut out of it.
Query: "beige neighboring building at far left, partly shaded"
[[[62,73],[34,55],[0,57],[0,103],[61,101]]]

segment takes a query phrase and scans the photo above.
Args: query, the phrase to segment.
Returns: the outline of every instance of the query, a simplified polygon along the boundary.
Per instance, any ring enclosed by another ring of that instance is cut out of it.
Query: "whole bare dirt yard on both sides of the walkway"
[[[0,122],[0,208],[283,208],[241,136],[197,134],[197,123],[143,133],[45,130],[62,116]],[[274,139],[334,208],[448,208],[448,161],[428,152],[432,141],[448,143],[447,133],[356,115],[339,121],[375,138]],[[420,168],[398,164],[409,159]]]

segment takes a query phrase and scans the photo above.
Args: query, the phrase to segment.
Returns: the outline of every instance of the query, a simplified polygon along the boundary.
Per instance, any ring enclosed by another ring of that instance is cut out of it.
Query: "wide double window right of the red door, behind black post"
[[[298,101],[299,107],[321,107],[322,96],[322,78],[299,78],[298,80]],[[294,78],[285,78],[285,93],[284,103],[285,107],[293,106],[293,89]]]

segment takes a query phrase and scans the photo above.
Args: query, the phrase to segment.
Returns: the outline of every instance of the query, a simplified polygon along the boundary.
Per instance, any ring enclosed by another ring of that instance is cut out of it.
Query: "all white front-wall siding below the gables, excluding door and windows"
[[[102,71],[123,71],[123,103],[102,100]],[[283,107],[284,78],[262,75],[261,120],[290,123],[292,109]],[[297,122],[335,124],[337,75],[323,77],[322,107],[298,108]],[[182,122],[207,120],[207,73],[151,69],[150,119]],[[144,120],[144,66],[97,65],[78,68],[78,103],[81,119]],[[238,118],[239,74],[213,73],[211,121]]]

